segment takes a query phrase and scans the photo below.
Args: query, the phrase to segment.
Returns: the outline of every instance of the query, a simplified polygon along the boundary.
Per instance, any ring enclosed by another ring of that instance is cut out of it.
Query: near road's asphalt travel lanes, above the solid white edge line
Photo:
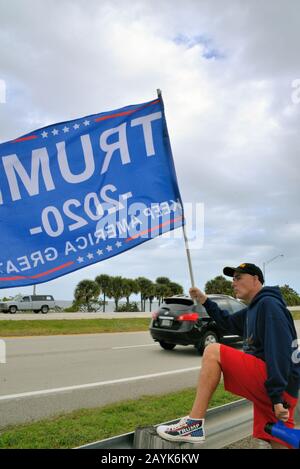
[[[164,351],[148,332],[7,338],[0,396],[200,366],[193,347]]]

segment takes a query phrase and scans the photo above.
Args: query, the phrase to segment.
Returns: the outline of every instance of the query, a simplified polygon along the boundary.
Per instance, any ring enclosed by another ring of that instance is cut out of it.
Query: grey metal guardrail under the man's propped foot
[[[176,419],[177,420],[177,419]],[[169,425],[176,420],[163,422],[158,425]],[[158,426],[156,425],[156,426]],[[222,448],[228,444],[239,441],[251,434],[252,430],[252,404],[246,399],[240,399],[230,404],[209,409],[206,414],[205,428],[208,439],[201,449]],[[159,437],[158,437],[159,438]],[[140,444],[135,446],[135,432],[125,433],[112,438],[96,441],[77,447],[75,449],[134,449],[142,448]],[[177,445],[178,446],[178,445]],[[164,448],[172,447],[172,443],[164,442]],[[174,443],[173,443],[174,447]],[[197,445],[181,444],[180,448],[197,448]],[[144,449],[148,449],[147,447]]]

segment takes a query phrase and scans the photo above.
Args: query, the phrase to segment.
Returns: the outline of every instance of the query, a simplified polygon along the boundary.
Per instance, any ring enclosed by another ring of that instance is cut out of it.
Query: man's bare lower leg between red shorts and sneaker
[[[210,344],[204,350],[191,418],[205,418],[210,399],[220,382],[221,372],[220,344]]]

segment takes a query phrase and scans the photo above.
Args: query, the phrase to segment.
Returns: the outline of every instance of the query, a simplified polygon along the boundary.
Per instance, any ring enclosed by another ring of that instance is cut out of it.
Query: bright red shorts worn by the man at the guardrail
[[[290,448],[290,445],[265,432],[267,422],[277,422],[272,402],[264,386],[267,380],[266,364],[260,358],[241,352],[226,345],[220,346],[221,367],[226,391],[245,397],[253,402],[253,436],[266,441],[277,441]],[[294,428],[294,412],[297,399],[284,392],[283,399],[290,405],[287,427]]]

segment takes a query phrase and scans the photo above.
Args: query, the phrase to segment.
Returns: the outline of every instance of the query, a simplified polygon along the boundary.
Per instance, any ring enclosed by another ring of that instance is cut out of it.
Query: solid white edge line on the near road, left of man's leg
[[[31,392],[24,392],[20,394],[8,394],[6,396],[0,396],[0,402],[9,400],[9,399],[20,399],[23,397],[43,396],[46,394],[56,394],[59,392],[75,391],[79,389],[90,389],[90,388],[96,388],[100,386],[108,386],[110,384],[120,384],[120,383],[127,383],[130,381],[139,381],[143,379],[158,378],[159,376],[175,375],[175,374],[180,374],[180,373],[187,373],[189,371],[199,371],[200,369],[201,369],[201,366],[194,366],[192,368],[182,368],[180,370],[164,371],[162,373],[153,373],[150,375],[132,376],[130,378],[114,379],[111,381],[100,381],[98,383],[80,384],[77,386],[68,386],[65,388],[42,389],[41,391],[31,391]]]

